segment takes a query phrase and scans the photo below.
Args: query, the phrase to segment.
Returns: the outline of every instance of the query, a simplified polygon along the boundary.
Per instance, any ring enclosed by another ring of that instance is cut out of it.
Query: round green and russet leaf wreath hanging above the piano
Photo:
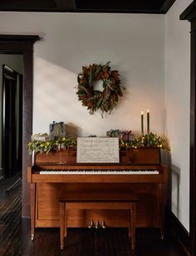
[[[111,113],[118,104],[118,96],[122,97],[122,86],[120,85],[117,70],[111,70],[107,64],[90,64],[83,67],[83,72],[78,74],[77,95],[82,105],[88,107],[89,113],[93,114],[97,110]],[[103,91],[94,90],[93,84],[103,81]]]

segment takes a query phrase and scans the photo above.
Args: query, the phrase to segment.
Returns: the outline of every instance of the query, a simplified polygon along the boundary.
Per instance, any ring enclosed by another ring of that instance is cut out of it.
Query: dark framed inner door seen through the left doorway
[[[3,177],[22,173],[23,75],[3,64]]]

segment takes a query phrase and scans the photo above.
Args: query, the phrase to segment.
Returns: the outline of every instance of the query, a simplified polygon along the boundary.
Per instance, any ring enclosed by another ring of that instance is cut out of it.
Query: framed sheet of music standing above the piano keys
[[[78,163],[118,163],[119,141],[115,137],[78,137]]]

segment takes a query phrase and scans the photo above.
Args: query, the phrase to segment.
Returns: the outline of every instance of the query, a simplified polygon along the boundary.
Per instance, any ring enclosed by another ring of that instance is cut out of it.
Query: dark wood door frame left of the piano
[[[38,35],[1,35],[0,54],[23,55],[23,218],[29,216],[28,141],[33,127],[33,44]]]

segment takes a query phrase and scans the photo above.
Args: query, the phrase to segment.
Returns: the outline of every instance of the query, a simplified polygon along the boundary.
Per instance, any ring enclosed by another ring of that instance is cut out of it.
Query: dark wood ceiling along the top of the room
[[[1,0],[0,11],[167,13],[175,0]]]

